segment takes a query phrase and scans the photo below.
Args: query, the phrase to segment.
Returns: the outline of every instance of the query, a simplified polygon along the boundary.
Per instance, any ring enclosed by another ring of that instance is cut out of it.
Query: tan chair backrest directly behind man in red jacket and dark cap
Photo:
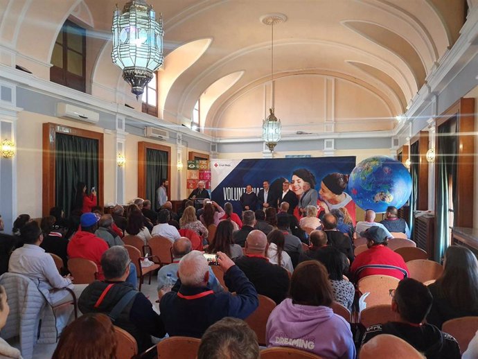
[[[399,280],[387,275],[370,275],[360,279],[357,287],[362,293],[370,294],[366,297],[366,308],[378,306],[380,304],[390,304],[391,297],[389,290],[396,289]]]

